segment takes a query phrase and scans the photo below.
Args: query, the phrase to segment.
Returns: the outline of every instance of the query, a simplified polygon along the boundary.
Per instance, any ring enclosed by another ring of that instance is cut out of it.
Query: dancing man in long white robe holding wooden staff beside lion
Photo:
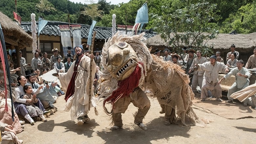
[[[91,87],[93,87],[96,64],[92,61],[92,77],[89,77],[91,58],[94,58],[94,55],[83,54],[82,45],[76,46],[74,49],[76,54],[75,62],[73,62],[68,72],[58,73],[58,77],[66,93],[66,106],[64,111],[69,112],[71,110],[71,120],[77,120],[77,125],[82,125],[84,122],[90,120],[87,114],[91,107],[94,107],[97,115],[93,89],[89,89],[90,84],[92,85]]]

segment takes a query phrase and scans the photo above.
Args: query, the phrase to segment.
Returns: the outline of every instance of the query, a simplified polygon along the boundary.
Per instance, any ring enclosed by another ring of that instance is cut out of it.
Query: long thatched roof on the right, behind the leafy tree
[[[208,46],[213,46],[217,50],[229,50],[232,44],[236,45],[236,49],[243,50],[256,47],[256,32],[250,34],[218,34],[216,39],[209,40]],[[149,46],[170,47],[161,39],[160,34],[148,39]]]

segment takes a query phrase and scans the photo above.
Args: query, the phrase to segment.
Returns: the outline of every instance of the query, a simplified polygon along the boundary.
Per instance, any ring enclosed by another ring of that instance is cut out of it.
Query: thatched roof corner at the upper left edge
[[[19,46],[19,48],[32,45],[32,37],[2,12],[0,12],[0,23],[6,43]]]

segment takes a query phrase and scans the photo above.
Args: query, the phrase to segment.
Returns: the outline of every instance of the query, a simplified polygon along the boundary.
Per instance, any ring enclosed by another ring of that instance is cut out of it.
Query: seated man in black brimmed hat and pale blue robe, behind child
[[[28,75],[28,76],[26,76],[27,82],[28,82],[26,85],[30,85],[32,87],[33,91],[38,89],[40,87],[40,85],[35,82],[35,78],[33,75],[31,75],[31,72],[25,71],[25,73]],[[41,103],[43,104],[43,106],[46,110],[54,108],[53,103],[56,102],[56,99],[58,97],[58,95],[54,89],[56,84],[57,83],[50,83],[48,85],[45,85],[45,86],[43,86],[42,89],[40,89],[40,91],[38,93],[34,93],[34,94],[36,94],[36,97],[41,101]]]

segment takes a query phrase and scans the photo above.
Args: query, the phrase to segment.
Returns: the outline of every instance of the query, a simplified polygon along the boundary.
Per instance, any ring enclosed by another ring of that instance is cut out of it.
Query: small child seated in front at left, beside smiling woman
[[[42,87],[39,87],[39,89],[42,88]],[[27,106],[27,110],[29,112],[29,115],[31,117],[35,117],[35,116],[39,116],[43,122],[46,122],[47,119],[44,117],[44,112],[39,109],[37,106],[35,106],[35,104],[39,101],[37,98],[36,98],[36,95],[35,94],[32,94],[33,93],[33,90],[32,90],[32,87],[30,85],[25,85],[23,87],[24,89],[24,92],[26,93],[23,98],[24,99],[30,99],[31,101],[27,101],[26,102],[26,106]],[[34,122],[32,122],[33,124]]]

